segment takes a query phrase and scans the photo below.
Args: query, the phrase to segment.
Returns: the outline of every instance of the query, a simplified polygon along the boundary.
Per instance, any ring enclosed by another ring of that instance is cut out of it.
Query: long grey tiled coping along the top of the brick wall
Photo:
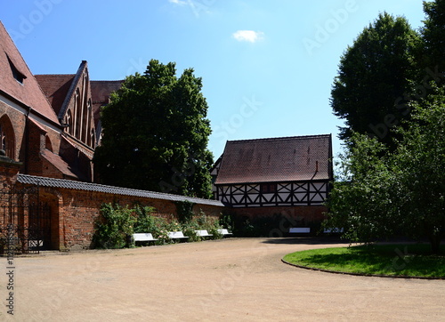
[[[218,200],[201,199],[198,197],[183,197],[177,195],[170,195],[161,192],[152,192],[147,190],[127,189],[113,186],[105,186],[97,183],[88,183],[81,181],[71,181],[64,179],[53,179],[45,177],[37,177],[28,174],[19,174],[17,181],[23,184],[40,185],[41,187],[52,187],[62,189],[77,189],[85,191],[96,191],[109,193],[113,195],[134,196],[134,197],[149,197],[153,199],[171,200],[171,201],[190,201],[199,205],[217,205],[223,206]]]

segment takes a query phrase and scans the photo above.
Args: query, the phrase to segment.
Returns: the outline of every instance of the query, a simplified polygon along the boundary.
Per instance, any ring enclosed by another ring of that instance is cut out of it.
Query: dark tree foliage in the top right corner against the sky
[[[424,2],[422,34],[423,67],[445,72],[445,1]]]

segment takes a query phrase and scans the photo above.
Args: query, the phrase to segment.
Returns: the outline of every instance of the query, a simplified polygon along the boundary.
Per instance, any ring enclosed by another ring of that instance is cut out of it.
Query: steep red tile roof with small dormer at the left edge
[[[20,84],[12,75],[12,65],[24,76]],[[19,50],[12,42],[4,25],[0,21],[0,90],[13,99],[31,107],[38,114],[59,124],[59,120],[46,100],[36,78],[32,75]]]

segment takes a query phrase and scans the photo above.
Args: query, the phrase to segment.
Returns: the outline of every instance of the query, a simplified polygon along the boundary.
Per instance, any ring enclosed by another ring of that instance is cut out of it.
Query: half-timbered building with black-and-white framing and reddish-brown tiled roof
[[[227,141],[213,175],[215,198],[237,213],[293,213],[317,221],[333,180],[332,138]]]

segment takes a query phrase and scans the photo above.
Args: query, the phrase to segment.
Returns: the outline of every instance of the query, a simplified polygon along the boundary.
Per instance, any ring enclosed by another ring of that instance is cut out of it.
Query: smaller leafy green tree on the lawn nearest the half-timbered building
[[[344,228],[344,237],[370,243],[396,233],[400,211],[392,204],[394,173],[383,143],[366,134],[352,133],[340,169],[345,181],[336,181],[328,199],[329,228]],[[391,209],[391,211],[390,211]]]

